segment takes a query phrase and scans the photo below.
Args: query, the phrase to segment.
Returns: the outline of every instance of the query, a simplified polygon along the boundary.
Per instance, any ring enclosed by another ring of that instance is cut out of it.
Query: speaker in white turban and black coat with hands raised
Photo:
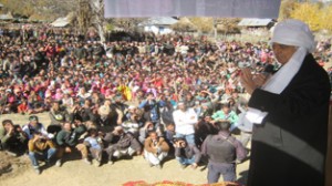
[[[324,185],[330,81],[311,54],[315,41],[300,20],[284,20],[271,39],[281,68],[241,73],[253,123],[248,186]]]

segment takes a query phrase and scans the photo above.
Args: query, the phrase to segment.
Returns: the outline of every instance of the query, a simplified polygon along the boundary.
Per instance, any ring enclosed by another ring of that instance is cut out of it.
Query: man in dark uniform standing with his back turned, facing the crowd
[[[228,121],[216,122],[219,133],[208,135],[201,145],[201,154],[208,157],[208,183],[217,183],[220,175],[224,182],[236,180],[236,163],[247,156],[241,142],[231,136]]]

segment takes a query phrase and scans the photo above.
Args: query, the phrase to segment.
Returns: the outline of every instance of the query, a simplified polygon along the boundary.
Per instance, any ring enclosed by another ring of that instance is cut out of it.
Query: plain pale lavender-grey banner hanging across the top
[[[278,18],[281,0],[104,0],[105,18]]]

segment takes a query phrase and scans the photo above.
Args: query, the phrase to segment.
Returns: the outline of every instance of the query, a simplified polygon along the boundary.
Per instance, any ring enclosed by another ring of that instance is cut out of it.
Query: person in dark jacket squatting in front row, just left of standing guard
[[[196,145],[187,144],[185,138],[174,138],[175,158],[179,162],[181,168],[190,165],[196,169],[201,157],[200,151]]]

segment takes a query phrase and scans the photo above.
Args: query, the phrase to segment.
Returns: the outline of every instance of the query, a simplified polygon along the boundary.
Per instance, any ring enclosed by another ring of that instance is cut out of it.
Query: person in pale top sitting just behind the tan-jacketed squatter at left
[[[44,125],[39,122],[37,115],[31,115],[29,117],[29,123],[23,125],[22,130],[27,134],[29,140],[31,140],[33,137],[33,134],[37,132],[41,133],[41,135],[46,138],[53,138],[53,135],[49,134]]]

